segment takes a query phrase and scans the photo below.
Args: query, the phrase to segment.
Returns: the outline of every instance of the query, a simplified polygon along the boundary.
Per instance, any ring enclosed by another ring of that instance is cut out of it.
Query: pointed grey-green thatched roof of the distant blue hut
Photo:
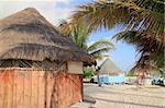
[[[109,58],[100,65],[100,74],[119,75],[123,73]]]

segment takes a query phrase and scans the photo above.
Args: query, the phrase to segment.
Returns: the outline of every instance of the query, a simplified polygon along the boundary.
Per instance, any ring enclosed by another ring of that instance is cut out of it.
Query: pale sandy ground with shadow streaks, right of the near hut
[[[96,104],[79,103],[73,108],[165,108],[165,87],[134,85],[85,84],[86,96],[94,97]]]

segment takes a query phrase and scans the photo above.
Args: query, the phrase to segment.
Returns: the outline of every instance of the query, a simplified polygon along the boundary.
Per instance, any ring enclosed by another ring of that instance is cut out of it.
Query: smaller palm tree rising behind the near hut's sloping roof
[[[79,23],[74,28],[69,27],[68,25],[69,24],[66,21],[63,21],[59,26],[59,31],[63,34],[68,35],[75,44],[81,47],[95,59],[102,59],[107,57],[107,52],[113,48],[113,44],[108,39],[100,39],[94,44],[88,45],[89,32],[84,22]]]

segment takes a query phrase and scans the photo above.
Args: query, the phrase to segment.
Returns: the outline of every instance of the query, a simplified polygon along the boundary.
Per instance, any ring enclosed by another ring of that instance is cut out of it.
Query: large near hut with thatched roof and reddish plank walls
[[[0,20],[0,108],[66,108],[95,60],[35,9]]]

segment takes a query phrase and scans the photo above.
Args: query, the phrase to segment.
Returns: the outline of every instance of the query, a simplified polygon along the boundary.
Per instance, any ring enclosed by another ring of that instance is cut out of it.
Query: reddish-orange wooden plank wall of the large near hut
[[[56,108],[66,108],[81,100],[81,79],[68,73],[46,79],[45,71],[0,70],[0,108],[50,108],[54,84]]]

